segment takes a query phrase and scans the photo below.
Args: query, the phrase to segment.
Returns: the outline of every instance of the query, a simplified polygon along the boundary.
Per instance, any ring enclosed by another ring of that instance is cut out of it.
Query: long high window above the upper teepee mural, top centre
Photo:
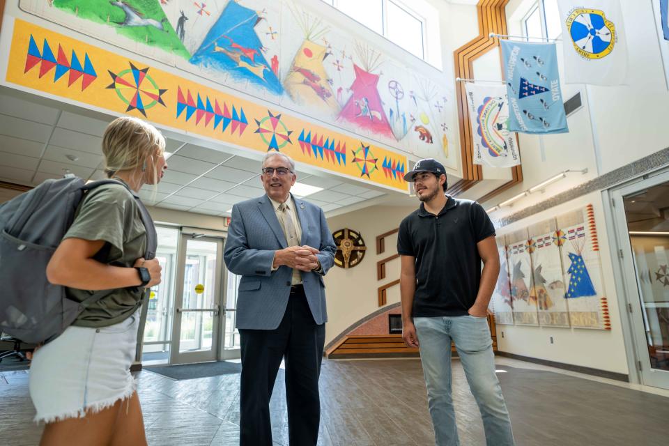
[[[429,4],[413,0],[411,2],[401,0],[323,0],[353,20],[360,22],[367,28],[384,36],[392,43],[406,49],[411,54],[428,60],[426,54],[426,23],[432,20],[425,18],[415,12],[416,8],[429,7]],[[411,5],[409,8],[408,5]],[[437,27],[438,36],[438,14],[434,14],[432,27]],[[430,33],[431,39],[434,33]],[[440,45],[435,45],[434,51],[440,52]],[[430,58],[429,63],[441,66],[440,54]]]

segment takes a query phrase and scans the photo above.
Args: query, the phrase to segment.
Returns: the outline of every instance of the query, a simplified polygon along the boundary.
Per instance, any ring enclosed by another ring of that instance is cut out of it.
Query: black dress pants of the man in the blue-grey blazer
[[[301,285],[293,286],[275,330],[239,330],[242,355],[240,446],[272,446],[270,397],[285,358],[291,446],[316,446],[321,421],[318,376],[325,324],[316,325]]]

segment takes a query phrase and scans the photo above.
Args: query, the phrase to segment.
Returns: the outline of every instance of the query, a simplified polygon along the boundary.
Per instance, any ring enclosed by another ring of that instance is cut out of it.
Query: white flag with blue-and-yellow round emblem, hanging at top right
[[[560,0],[567,84],[621,85],[627,47],[618,0]]]

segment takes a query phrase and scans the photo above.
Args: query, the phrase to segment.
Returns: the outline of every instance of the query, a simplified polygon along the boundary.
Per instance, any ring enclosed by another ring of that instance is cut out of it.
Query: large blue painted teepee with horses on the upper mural
[[[229,1],[190,62],[203,68],[225,70],[233,78],[246,79],[272,93],[283,93],[256,34],[261,20],[255,10]]]

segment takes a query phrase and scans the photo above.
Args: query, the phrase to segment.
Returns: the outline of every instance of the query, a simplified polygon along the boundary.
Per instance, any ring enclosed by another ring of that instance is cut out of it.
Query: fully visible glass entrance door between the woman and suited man
[[[223,240],[182,234],[170,364],[218,359],[223,295]]]

